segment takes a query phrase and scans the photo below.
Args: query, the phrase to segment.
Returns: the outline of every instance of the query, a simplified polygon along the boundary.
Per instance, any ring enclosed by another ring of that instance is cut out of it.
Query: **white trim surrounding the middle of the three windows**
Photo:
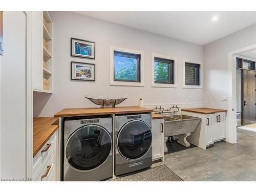
[[[161,58],[161,59],[174,60],[174,84],[155,83],[155,57]],[[178,84],[177,75],[178,75],[178,59],[177,59],[177,57],[152,53],[152,57],[151,57],[151,87],[177,88],[177,84]]]

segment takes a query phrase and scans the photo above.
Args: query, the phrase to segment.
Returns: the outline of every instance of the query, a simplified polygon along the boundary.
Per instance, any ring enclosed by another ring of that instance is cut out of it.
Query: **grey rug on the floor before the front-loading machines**
[[[166,165],[160,165],[137,172],[132,175],[126,175],[113,179],[111,181],[183,181]]]

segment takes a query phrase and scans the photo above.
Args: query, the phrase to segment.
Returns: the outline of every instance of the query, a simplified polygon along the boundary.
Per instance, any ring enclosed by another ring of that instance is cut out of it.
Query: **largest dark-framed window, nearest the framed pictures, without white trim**
[[[140,82],[140,55],[114,51],[114,81]]]

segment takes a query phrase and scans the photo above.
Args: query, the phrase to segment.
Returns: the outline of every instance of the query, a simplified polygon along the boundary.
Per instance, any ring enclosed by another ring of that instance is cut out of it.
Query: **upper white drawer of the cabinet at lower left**
[[[50,139],[40,148],[40,151],[33,158],[33,178],[37,178],[43,168],[43,165],[48,161],[55,149],[55,133]]]

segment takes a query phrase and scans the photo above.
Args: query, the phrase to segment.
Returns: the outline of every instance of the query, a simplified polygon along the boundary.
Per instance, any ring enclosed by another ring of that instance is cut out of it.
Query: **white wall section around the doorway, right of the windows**
[[[204,46],[204,104],[228,109],[228,52],[256,44],[256,24]]]

